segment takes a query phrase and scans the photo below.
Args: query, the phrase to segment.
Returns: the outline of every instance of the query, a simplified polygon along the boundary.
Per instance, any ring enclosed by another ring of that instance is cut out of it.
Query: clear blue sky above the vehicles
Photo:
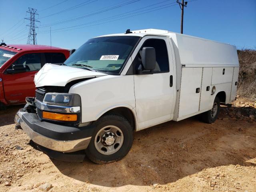
[[[129,28],[180,32],[180,7],[176,0],[0,0],[0,40],[26,44],[29,28],[28,20],[23,18],[29,16],[28,7],[38,10],[38,44],[50,45],[50,26],[52,46],[63,48],[78,48],[89,38]],[[183,32],[238,48],[256,49],[256,0],[188,2]]]

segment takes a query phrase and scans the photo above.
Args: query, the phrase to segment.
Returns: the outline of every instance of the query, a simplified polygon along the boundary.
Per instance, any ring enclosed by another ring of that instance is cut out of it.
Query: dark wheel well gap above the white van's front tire
[[[132,129],[135,130],[134,115],[133,115],[132,111],[129,108],[118,107],[118,108],[114,108],[114,109],[109,110],[105,114],[119,114],[119,115],[124,116],[130,122],[130,124],[132,126]]]

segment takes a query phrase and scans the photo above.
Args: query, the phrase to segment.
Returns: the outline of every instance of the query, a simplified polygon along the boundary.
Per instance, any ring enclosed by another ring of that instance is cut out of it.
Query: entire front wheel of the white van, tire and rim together
[[[116,114],[102,116],[95,122],[95,131],[86,156],[97,164],[122,159],[132,147],[132,126],[126,118]]]

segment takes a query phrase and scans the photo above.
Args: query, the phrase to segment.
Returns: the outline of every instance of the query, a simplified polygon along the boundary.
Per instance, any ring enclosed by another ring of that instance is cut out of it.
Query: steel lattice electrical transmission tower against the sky
[[[38,13],[36,12],[36,9],[33,8],[28,8],[27,13],[30,14],[29,18],[25,18],[26,20],[30,20],[30,24],[26,25],[29,26],[29,34],[28,34],[28,42],[27,44],[33,44],[36,45],[36,28],[38,28],[38,26],[36,26],[35,22],[40,22],[35,18],[35,15],[38,15]]]

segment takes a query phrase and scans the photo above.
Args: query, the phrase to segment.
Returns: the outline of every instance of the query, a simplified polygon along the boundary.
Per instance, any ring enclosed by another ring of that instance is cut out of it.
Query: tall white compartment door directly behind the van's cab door
[[[201,81],[202,68],[182,68],[178,118],[198,112]]]

